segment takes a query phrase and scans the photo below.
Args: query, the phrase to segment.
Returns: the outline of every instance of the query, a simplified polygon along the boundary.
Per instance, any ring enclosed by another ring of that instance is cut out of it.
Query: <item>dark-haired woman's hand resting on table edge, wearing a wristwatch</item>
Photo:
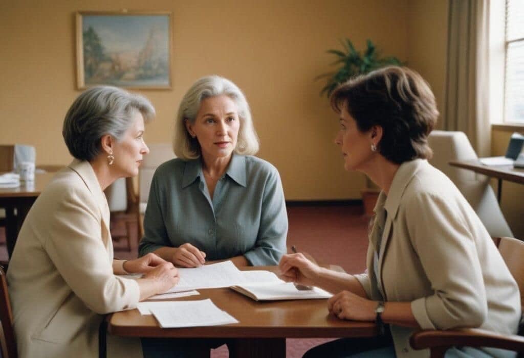
[[[330,313],[340,319],[355,321],[374,321],[376,307],[376,301],[370,301],[349,291],[337,293],[328,301]]]

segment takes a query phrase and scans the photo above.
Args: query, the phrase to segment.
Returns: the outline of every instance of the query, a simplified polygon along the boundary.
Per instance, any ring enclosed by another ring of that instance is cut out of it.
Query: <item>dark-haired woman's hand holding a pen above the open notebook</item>
[[[281,279],[301,285],[316,285],[320,274],[319,265],[308,260],[302,253],[284,255],[278,264]]]

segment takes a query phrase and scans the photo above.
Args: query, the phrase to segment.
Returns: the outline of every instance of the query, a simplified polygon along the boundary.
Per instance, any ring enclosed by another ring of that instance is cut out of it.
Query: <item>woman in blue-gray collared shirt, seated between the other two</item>
[[[288,230],[282,184],[253,156],[258,137],[242,91],[220,76],[197,80],[180,103],[173,149],[178,158],[152,179],[140,255],[182,267],[278,263]]]

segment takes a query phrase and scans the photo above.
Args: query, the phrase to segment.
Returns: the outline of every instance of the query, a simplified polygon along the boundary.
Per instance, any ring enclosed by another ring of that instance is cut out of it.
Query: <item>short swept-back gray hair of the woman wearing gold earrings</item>
[[[62,135],[69,153],[77,159],[91,161],[102,150],[101,138],[110,134],[116,141],[133,124],[139,111],[147,122],[155,116],[155,108],[144,97],[112,86],[96,86],[85,90],[65,114]]]

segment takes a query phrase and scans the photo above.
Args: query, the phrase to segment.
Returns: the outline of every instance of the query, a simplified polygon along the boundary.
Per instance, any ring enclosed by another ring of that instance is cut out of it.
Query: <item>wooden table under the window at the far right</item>
[[[524,184],[524,169],[514,168],[512,165],[487,166],[478,160],[450,161],[450,165],[453,167],[472,170],[476,173],[487,175],[488,177],[496,178],[498,181],[497,200],[499,203],[502,195],[503,180]]]

